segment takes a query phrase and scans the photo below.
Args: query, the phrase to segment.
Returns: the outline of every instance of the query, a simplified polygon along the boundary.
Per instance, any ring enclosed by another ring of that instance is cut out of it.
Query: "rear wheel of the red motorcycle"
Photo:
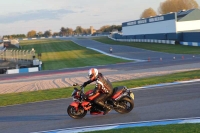
[[[134,108],[134,102],[132,98],[123,97],[118,101],[118,107],[114,110],[120,114],[129,113]]]

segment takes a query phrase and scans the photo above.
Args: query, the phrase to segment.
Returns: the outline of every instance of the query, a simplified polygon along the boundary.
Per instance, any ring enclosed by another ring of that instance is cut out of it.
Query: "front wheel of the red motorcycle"
[[[74,106],[69,105],[67,108],[67,113],[74,119],[81,119],[87,114],[87,111],[84,110],[83,107],[78,107],[78,110],[76,110]]]

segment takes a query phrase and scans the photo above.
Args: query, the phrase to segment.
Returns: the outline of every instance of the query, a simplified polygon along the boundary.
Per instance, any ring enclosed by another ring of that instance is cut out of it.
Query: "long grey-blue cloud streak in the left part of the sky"
[[[37,10],[28,11],[25,13],[10,13],[7,15],[0,15],[0,23],[14,23],[17,21],[33,21],[33,20],[56,20],[60,19],[63,15],[76,13],[72,10],[59,9],[59,10]]]

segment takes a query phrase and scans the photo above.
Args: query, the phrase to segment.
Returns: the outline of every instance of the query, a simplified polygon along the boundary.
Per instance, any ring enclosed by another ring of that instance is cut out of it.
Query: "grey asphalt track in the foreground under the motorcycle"
[[[72,101],[60,99],[0,107],[0,131],[28,133],[70,127],[200,117],[200,82],[133,90],[135,108],[129,114],[115,111],[75,120],[67,115]]]

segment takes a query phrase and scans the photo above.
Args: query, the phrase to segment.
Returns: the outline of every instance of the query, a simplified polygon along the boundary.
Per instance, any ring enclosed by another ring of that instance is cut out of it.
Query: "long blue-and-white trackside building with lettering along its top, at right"
[[[200,9],[170,12],[122,23],[122,35],[114,39],[154,39],[200,42]]]

